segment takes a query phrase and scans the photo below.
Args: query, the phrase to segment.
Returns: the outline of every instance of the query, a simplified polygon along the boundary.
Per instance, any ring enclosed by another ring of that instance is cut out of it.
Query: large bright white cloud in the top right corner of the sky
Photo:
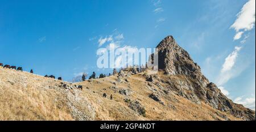
[[[236,30],[234,40],[241,38],[243,31],[250,31],[255,25],[255,0],[249,0],[243,5],[241,11],[237,14],[236,21],[230,28]],[[242,30],[242,31],[241,31]]]

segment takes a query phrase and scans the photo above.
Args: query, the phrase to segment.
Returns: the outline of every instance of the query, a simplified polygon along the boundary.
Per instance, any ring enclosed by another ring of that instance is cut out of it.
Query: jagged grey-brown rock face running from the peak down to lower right
[[[172,90],[178,95],[200,104],[202,101],[214,109],[229,112],[243,120],[255,120],[255,112],[242,105],[229,100],[216,84],[209,82],[201,73],[197,63],[189,56],[188,52],[177,45],[174,37],[167,36],[158,46],[158,67],[167,75],[183,75],[184,81],[180,85],[170,82]]]

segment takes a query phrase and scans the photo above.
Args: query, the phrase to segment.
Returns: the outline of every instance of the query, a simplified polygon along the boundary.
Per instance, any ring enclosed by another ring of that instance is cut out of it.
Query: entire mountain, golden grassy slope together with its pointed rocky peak
[[[255,120],[172,36],[156,48],[158,72],[129,67],[77,83],[0,67],[0,120]]]

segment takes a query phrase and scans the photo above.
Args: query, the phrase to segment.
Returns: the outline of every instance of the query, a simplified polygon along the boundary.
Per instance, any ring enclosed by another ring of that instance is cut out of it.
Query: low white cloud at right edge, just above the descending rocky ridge
[[[242,104],[246,108],[255,110],[255,97],[247,97],[245,99],[243,97],[237,97],[234,99],[234,103]]]

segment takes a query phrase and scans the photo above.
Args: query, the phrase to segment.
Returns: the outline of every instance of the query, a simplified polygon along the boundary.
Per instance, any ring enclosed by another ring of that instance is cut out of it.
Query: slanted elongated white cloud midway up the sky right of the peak
[[[226,71],[229,71],[232,69],[232,67],[236,63],[238,52],[241,50],[241,48],[242,48],[241,46],[240,47],[236,46],[234,51],[231,54],[229,54],[228,57],[225,58],[225,62],[222,65],[221,73],[225,73]]]

